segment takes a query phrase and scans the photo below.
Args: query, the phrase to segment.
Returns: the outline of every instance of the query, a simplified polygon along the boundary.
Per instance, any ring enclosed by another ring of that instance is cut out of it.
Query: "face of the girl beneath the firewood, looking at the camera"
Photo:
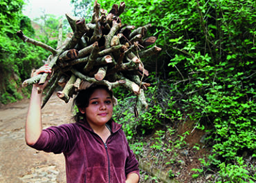
[[[102,88],[96,89],[89,98],[89,106],[80,108],[80,112],[86,114],[87,122],[92,127],[105,125],[113,113],[111,96]]]

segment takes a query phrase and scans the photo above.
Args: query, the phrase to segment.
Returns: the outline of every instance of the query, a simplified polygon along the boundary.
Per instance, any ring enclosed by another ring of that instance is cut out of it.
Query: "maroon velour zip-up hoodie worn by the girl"
[[[106,144],[86,121],[51,126],[31,146],[39,151],[64,153],[67,183],[124,183],[129,173],[139,175],[138,161],[121,125],[110,120]]]

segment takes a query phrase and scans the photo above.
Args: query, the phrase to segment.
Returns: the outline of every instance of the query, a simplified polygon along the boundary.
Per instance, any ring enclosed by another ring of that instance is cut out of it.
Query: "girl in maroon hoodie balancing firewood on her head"
[[[35,72],[51,73],[43,66]],[[113,93],[104,85],[91,84],[74,99],[79,112],[75,123],[42,130],[41,99],[46,84],[33,86],[26,119],[28,146],[53,153],[63,153],[66,182],[137,183],[138,161],[129,148],[121,125],[113,122]]]

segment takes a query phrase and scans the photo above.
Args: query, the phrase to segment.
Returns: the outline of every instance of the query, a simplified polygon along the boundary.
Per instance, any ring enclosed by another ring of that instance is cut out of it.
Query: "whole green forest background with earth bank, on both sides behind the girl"
[[[71,2],[74,15],[89,22],[93,1]],[[110,0],[98,3],[108,11],[113,5]],[[145,91],[147,110],[134,117],[136,97],[124,88],[115,90],[119,106],[114,118],[138,159],[158,170],[142,171],[143,182],[256,182],[256,2],[125,3],[122,23],[152,23],[147,34],[158,37],[156,44],[162,48],[143,59],[150,73],[143,79],[151,84]],[[62,17],[44,15],[31,21],[22,14],[23,7],[23,0],[0,1],[1,104],[29,97],[30,87],[21,88],[21,83],[50,55],[21,41],[17,30],[57,45]],[[71,29],[65,22],[67,34]],[[198,142],[194,134],[201,134]]]

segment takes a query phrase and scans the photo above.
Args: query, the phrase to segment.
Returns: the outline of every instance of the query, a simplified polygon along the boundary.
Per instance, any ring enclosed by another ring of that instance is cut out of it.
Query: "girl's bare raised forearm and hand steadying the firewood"
[[[45,65],[39,70],[37,70],[37,72],[34,73],[34,76],[38,75],[39,73],[51,73],[51,68]],[[39,139],[42,133],[42,92],[38,93],[37,88],[39,88],[40,90],[44,90],[45,86],[46,83],[42,86],[39,86],[38,84],[33,85],[25,127],[25,139],[28,145],[35,144],[35,142],[37,142],[37,139]]]

